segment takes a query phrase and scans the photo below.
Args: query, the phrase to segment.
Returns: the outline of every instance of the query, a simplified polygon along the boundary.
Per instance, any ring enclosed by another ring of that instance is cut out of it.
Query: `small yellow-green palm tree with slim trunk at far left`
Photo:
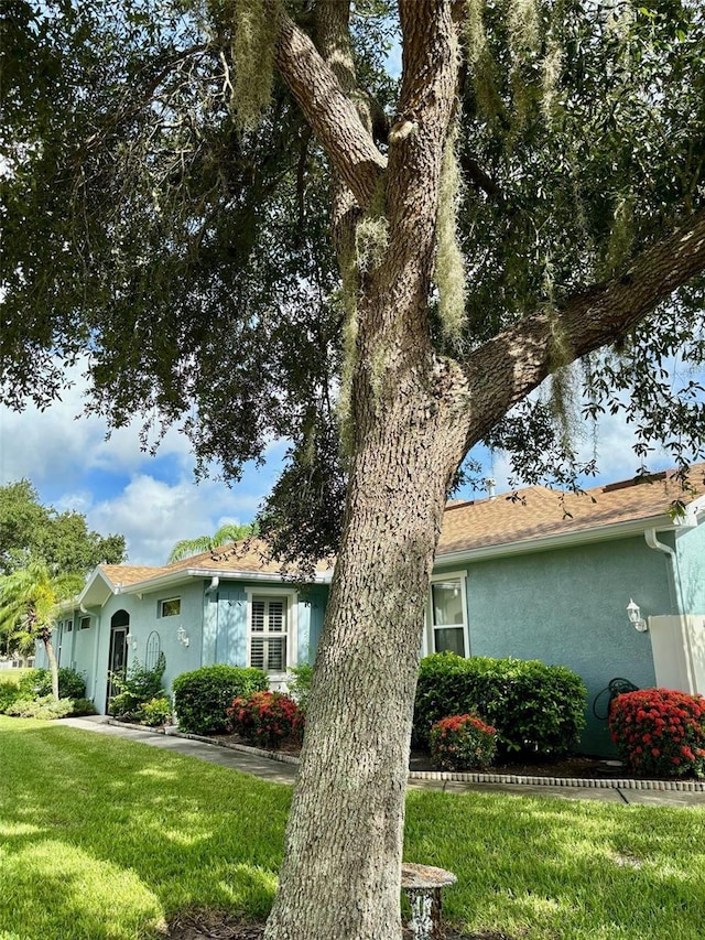
[[[20,648],[26,649],[36,640],[44,644],[55,699],[58,699],[58,663],[52,645],[54,614],[57,604],[78,594],[83,585],[80,574],[54,574],[45,562],[37,560],[0,577],[0,633],[8,634]]]

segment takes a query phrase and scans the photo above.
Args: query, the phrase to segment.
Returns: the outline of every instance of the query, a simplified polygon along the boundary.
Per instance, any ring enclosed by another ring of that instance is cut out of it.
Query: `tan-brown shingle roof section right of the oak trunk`
[[[691,472],[693,491],[684,491],[672,472],[652,482],[625,480],[583,494],[532,486],[516,499],[497,496],[446,507],[437,555],[503,545],[533,539],[587,532],[625,522],[665,516],[676,499],[691,503],[705,493],[705,464]]]

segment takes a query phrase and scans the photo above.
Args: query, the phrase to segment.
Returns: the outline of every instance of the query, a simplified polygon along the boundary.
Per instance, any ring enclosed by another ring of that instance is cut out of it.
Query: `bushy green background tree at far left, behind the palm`
[[[42,506],[29,479],[0,487],[0,575],[43,559],[50,571],[88,574],[127,559],[123,536],[89,531],[82,512]]]

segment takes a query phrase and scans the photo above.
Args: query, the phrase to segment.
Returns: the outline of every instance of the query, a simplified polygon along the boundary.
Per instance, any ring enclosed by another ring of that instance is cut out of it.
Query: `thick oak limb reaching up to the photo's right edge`
[[[620,277],[573,294],[471,353],[470,436],[482,437],[558,366],[625,336],[680,287],[705,271],[705,208],[644,248]]]

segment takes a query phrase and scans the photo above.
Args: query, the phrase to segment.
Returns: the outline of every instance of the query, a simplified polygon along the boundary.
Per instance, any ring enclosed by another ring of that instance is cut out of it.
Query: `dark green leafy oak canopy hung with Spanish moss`
[[[344,499],[346,289],[328,237],[326,141],[281,72],[260,75],[265,55],[258,68],[242,61],[238,23],[260,6],[3,4],[0,378],[6,401],[46,404],[64,365],[88,352],[93,408],[118,425],[142,413],[150,443],[176,422],[202,466],[216,460],[235,478],[272,435],[289,437],[290,476],[264,527],[294,514],[305,531],[312,504],[323,507],[329,530],[307,533],[321,553],[337,543]],[[314,39],[322,6],[284,4]],[[628,277],[664,233],[695,224],[703,191],[702,4],[465,9],[459,175],[438,216],[440,231],[457,216],[457,234],[440,241],[429,296],[434,345],[451,356]],[[267,22],[249,29],[267,46]],[[414,125],[394,110],[398,29],[390,2],[352,8],[355,100],[380,154],[370,186],[392,123]],[[373,240],[373,225],[358,230],[358,262],[370,263]],[[556,325],[552,389],[520,407],[543,447],[523,446],[503,414],[485,429],[513,449],[522,478],[573,478],[571,414],[605,410],[637,428],[636,464],[657,440],[679,462],[702,456],[703,279],[682,280],[581,370],[566,368],[574,353]],[[543,464],[529,458],[546,450]]]

